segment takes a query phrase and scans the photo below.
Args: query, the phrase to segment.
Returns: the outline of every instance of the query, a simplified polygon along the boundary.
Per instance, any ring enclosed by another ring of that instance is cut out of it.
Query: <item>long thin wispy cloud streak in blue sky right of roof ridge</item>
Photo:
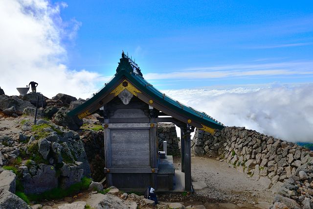
[[[194,79],[240,76],[313,75],[313,62],[281,62],[267,64],[196,67],[169,73],[147,73],[147,79]]]

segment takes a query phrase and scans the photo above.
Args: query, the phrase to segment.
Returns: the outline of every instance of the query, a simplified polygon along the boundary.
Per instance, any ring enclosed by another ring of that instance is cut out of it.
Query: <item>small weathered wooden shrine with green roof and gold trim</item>
[[[112,80],[68,115],[84,118],[100,108],[104,116],[107,186],[124,191],[144,190],[148,186],[158,191],[173,190],[179,181],[175,178],[172,156],[159,156],[158,122],[172,122],[181,130],[182,190],[185,191],[192,190],[190,133],[195,127],[211,134],[224,128],[205,113],[156,90],[124,52]]]

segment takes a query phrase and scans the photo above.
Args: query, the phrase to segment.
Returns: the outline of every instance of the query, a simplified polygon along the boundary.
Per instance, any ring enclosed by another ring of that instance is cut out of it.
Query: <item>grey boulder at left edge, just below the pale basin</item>
[[[23,114],[23,110],[26,107],[34,107],[29,101],[23,101],[18,96],[0,95],[0,110],[5,110],[14,106],[16,113]]]

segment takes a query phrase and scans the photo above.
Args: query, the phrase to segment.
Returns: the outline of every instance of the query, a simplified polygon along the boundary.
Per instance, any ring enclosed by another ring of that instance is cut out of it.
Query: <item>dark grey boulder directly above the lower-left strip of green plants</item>
[[[27,173],[22,177],[21,183],[26,194],[42,193],[58,186],[58,177],[54,166],[39,164],[34,173],[36,174],[34,176]]]

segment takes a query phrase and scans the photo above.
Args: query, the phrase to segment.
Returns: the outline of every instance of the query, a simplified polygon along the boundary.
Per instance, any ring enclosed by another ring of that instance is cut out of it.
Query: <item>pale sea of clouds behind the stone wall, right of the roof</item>
[[[312,84],[292,88],[163,92],[226,126],[245,126],[288,141],[313,142]]]

